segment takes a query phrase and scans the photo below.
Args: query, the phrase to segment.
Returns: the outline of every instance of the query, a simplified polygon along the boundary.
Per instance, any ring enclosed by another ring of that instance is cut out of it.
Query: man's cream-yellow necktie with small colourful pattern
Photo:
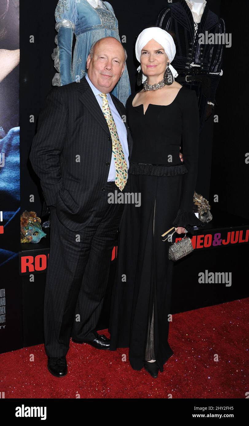
[[[111,109],[108,104],[106,93],[100,93],[99,95],[100,98],[102,98],[103,114],[111,133],[112,155],[114,157],[114,164],[116,169],[115,184],[122,191],[127,182],[127,163],[121,142],[117,134],[117,127],[111,114]]]

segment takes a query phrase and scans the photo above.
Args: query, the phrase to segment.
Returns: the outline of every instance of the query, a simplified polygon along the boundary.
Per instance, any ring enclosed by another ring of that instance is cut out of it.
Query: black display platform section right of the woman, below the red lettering
[[[215,209],[211,213],[214,219],[191,238],[194,251],[173,266],[172,314],[249,296],[249,220]]]

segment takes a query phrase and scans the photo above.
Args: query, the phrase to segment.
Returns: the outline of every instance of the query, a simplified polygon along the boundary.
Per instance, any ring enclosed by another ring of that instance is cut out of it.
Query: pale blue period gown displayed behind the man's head
[[[58,72],[53,77],[53,86],[64,86],[84,77],[86,60],[95,41],[103,37],[115,37],[120,41],[114,10],[107,1],[103,1],[103,5],[106,9],[95,9],[87,0],[59,0],[55,11],[57,47],[52,55]],[[76,43],[71,66],[73,34]],[[131,94],[127,68],[111,93],[126,104]]]

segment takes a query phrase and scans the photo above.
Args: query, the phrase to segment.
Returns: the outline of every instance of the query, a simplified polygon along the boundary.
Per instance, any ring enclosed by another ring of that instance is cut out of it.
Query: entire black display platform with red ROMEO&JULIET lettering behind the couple
[[[191,237],[194,251],[173,266],[172,314],[249,296],[248,288],[244,285],[244,265],[248,263],[249,252],[249,220],[219,210],[212,209],[211,212],[214,219],[196,230]],[[43,229],[47,236],[40,243],[21,244],[23,347],[44,342],[43,301],[50,228]],[[111,262],[98,330],[108,328],[115,262],[115,259]],[[207,278],[211,280],[213,274],[214,282],[199,282],[201,273],[204,281]],[[217,273],[220,275],[216,276]],[[230,283],[222,280],[228,281],[229,277]]]

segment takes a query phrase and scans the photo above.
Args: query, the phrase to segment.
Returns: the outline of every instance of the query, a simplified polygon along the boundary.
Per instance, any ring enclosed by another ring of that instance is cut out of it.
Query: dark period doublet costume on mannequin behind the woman
[[[176,56],[172,61],[173,67],[179,74],[176,81],[196,90],[201,131],[207,103],[215,102],[216,89],[220,81],[219,74],[210,73],[221,72],[224,45],[199,44],[199,34],[207,35],[207,37],[209,34],[214,34],[220,37],[225,34],[224,20],[211,12],[206,5],[195,34],[192,12],[185,0],[179,0],[177,3],[169,4],[159,13],[156,25],[176,35]],[[199,66],[190,66],[191,63]]]

